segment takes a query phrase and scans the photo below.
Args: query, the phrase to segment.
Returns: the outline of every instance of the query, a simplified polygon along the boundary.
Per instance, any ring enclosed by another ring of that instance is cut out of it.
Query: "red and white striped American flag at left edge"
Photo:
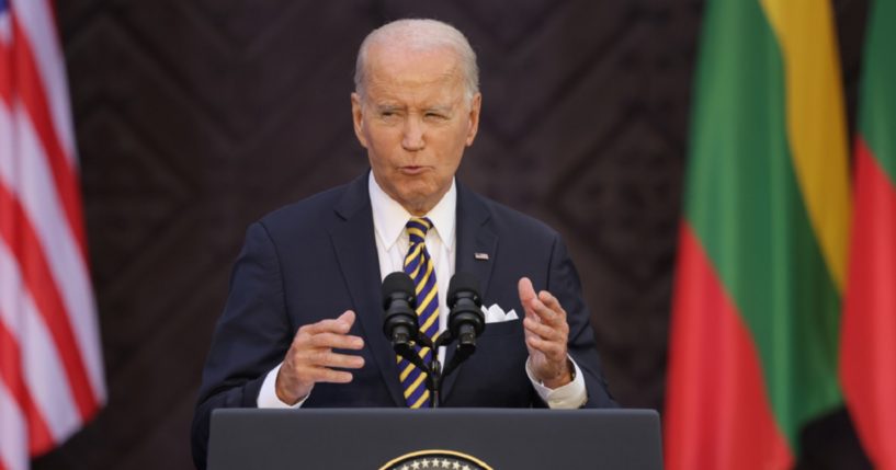
[[[105,402],[55,21],[52,0],[0,0],[0,470]]]

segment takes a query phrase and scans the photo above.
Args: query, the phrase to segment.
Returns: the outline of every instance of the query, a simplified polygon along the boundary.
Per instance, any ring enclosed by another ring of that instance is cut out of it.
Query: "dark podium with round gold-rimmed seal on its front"
[[[209,470],[662,468],[653,410],[220,409]]]

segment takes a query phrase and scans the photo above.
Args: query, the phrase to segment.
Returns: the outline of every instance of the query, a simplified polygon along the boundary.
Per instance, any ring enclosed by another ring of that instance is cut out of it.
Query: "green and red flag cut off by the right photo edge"
[[[840,376],[862,445],[896,469],[896,1],[872,2],[860,84]]]

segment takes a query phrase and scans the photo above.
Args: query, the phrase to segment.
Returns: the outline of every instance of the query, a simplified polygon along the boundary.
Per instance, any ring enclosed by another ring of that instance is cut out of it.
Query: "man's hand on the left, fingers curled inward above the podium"
[[[349,334],[355,314],[347,310],[336,320],[321,320],[298,329],[276,375],[276,396],[293,405],[308,397],[317,382],[348,383],[352,374],[340,369],[360,369],[364,358],[333,349],[358,351],[364,340]]]

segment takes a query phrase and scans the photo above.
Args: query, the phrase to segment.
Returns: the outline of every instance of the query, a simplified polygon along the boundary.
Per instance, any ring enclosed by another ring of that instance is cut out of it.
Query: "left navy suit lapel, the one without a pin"
[[[398,382],[395,352],[383,334],[379,259],[373,232],[367,174],[347,187],[342,200],[336,207],[338,219],[330,227],[330,237],[366,345],[395,404],[402,406],[405,400]]]

